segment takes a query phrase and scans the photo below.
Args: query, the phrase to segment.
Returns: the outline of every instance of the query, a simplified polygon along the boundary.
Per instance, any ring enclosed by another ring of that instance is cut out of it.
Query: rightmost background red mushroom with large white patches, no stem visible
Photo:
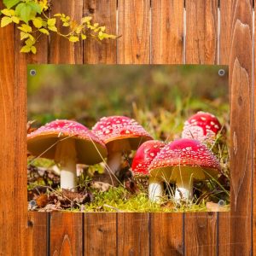
[[[200,111],[185,121],[182,137],[212,144],[220,129],[221,125],[216,116]]]

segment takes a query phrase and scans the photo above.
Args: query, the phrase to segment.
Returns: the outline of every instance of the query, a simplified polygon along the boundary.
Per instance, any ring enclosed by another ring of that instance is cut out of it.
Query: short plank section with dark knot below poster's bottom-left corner
[[[47,214],[46,212],[28,212],[26,255],[47,254]]]

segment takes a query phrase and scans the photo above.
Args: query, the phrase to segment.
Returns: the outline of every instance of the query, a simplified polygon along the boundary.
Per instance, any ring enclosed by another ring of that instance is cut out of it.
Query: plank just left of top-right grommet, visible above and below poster
[[[186,0],[186,64],[216,64],[218,1]],[[217,213],[186,213],[186,255],[216,255]]]

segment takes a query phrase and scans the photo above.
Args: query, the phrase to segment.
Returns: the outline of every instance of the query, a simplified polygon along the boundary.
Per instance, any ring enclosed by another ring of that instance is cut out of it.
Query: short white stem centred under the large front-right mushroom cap
[[[178,177],[176,181],[175,199],[192,200],[193,198],[193,178]]]

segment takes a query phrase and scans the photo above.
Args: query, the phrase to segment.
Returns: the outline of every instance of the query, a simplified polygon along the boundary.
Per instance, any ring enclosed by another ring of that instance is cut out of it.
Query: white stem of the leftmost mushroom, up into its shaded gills
[[[61,189],[77,190],[76,160],[74,139],[63,139],[57,143],[55,161],[61,164]]]

